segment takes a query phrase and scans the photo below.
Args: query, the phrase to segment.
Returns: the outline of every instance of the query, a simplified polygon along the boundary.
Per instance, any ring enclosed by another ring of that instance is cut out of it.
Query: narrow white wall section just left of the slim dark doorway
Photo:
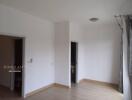
[[[69,22],[55,24],[55,82],[70,86]]]

